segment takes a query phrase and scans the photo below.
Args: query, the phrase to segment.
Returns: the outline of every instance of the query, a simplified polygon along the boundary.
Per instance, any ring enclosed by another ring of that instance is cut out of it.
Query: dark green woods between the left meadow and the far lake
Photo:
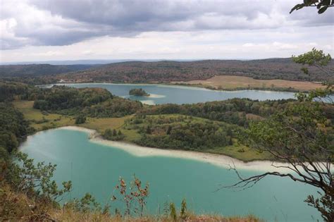
[[[0,82],[0,102],[13,99],[33,100],[35,109],[63,115],[120,117],[142,109],[139,101],[114,97],[101,88],[41,88],[20,82]]]

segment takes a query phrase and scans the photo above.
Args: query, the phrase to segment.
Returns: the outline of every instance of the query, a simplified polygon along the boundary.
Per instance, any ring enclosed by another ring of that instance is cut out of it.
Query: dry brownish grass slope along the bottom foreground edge
[[[0,183],[0,212],[7,215],[0,215],[0,221],[173,221],[170,216],[165,215],[144,215],[142,217],[123,217],[110,214],[103,214],[101,211],[77,211],[69,207],[58,207],[46,204],[38,199],[27,197],[24,193],[13,192],[10,186]],[[34,209],[32,211],[32,207]],[[113,213],[113,212],[111,212]],[[177,212],[178,221],[183,221]],[[10,217],[9,217],[10,216]],[[219,215],[196,215],[187,211],[187,221],[222,221],[222,222],[257,222],[263,221],[256,216],[219,216]]]

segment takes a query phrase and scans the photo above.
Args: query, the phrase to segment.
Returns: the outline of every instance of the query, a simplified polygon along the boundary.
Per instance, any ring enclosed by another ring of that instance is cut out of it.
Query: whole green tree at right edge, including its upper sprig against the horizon
[[[325,58],[323,60],[323,58]],[[322,51],[313,49],[307,54],[294,57],[298,63],[309,66],[321,66],[325,70],[328,64]],[[326,70],[330,71],[330,70]],[[317,187],[319,198],[309,195],[305,202],[314,206],[325,221],[334,221],[334,128],[333,120],[324,116],[326,106],[333,107],[329,95],[333,93],[333,85],[328,84],[326,90],[314,90],[309,94],[297,94],[299,103],[287,106],[266,121],[251,123],[247,130],[249,144],[261,151],[270,152],[277,161],[285,164],[273,164],[282,171],[266,172],[249,178],[242,178],[233,166],[240,181],[231,187],[252,187],[267,175],[290,178],[299,183]],[[315,100],[316,99],[316,100]],[[327,102],[324,102],[326,99]]]

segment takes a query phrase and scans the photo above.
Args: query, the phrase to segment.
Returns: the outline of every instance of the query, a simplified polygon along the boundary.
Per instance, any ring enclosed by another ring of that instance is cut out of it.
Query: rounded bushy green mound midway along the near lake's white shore
[[[235,126],[192,116],[136,116],[127,128],[140,132],[137,144],[165,149],[199,150],[233,144]]]

